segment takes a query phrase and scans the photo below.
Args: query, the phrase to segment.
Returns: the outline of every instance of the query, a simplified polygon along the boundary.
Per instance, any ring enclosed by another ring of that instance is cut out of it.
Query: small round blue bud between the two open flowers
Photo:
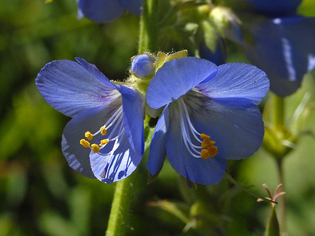
[[[151,76],[154,71],[155,58],[148,54],[136,56],[131,63],[132,72],[140,79]]]

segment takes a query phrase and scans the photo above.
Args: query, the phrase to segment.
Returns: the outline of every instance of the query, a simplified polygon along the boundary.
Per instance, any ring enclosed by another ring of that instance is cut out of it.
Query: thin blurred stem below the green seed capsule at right
[[[282,191],[284,190],[284,177],[283,177],[283,158],[276,159],[277,162],[277,171],[278,171],[278,182],[282,185]],[[279,198],[279,226],[281,236],[287,235],[287,226],[286,226],[286,204],[285,204],[285,195]]]

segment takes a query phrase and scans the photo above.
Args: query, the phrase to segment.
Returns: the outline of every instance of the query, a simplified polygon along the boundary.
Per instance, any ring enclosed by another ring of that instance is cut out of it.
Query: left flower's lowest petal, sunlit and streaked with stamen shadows
[[[141,154],[136,153],[131,148],[126,135],[119,142],[120,145],[114,151],[112,160],[107,166],[105,178],[101,178],[101,175],[106,168],[110,155],[103,156],[92,151],[90,153],[91,168],[95,177],[107,184],[128,177],[136,169],[142,158]]]

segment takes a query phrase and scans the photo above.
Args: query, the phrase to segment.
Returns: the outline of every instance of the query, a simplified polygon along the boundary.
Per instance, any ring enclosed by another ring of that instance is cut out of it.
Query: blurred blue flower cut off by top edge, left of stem
[[[97,23],[110,22],[126,11],[141,14],[143,0],[77,0],[78,19],[83,16]]]

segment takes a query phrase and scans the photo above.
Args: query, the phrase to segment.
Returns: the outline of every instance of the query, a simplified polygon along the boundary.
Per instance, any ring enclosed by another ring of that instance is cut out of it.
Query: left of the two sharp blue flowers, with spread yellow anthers
[[[129,85],[110,82],[95,65],[76,59],[80,64],[69,60],[46,64],[36,86],[49,105],[72,117],[62,135],[70,167],[110,184],[129,176],[142,158],[144,97]]]

